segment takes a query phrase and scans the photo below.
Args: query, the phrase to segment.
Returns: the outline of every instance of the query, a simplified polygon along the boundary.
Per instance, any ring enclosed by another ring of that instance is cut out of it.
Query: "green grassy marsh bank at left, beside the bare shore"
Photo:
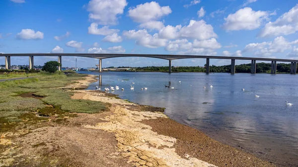
[[[0,132],[26,124],[28,120],[29,122],[47,121],[48,118],[39,116],[55,115],[57,111],[60,111],[59,114],[64,114],[67,112],[96,113],[107,110],[107,104],[90,100],[74,100],[71,99],[72,91],[62,89],[74,83],[75,80],[82,80],[84,76],[76,73],[65,75],[62,72],[39,73],[34,78],[1,82]],[[32,94],[32,97],[20,96],[28,93]],[[39,98],[34,98],[35,96]],[[49,105],[56,112],[47,110]]]

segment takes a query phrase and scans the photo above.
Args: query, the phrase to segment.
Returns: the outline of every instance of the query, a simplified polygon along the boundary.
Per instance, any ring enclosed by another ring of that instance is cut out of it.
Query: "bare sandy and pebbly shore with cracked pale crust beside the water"
[[[89,75],[68,89],[87,86],[92,81],[94,76]],[[65,116],[64,122],[52,117],[38,128],[2,134],[0,145],[9,147],[0,154],[0,167],[274,166],[179,124],[160,108],[136,105],[101,91],[70,91],[74,92],[73,99],[110,104],[109,111],[77,113],[74,117]]]

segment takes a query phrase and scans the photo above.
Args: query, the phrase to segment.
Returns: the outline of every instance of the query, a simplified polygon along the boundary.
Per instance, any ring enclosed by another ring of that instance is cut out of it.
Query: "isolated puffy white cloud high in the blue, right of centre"
[[[254,30],[259,28],[268,16],[267,11],[254,11],[250,7],[245,7],[224,18],[223,28],[227,31]]]

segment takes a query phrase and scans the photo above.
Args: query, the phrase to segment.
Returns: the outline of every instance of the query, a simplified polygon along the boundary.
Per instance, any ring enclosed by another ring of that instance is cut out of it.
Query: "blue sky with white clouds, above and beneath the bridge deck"
[[[125,53],[298,59],[298,0],[0,0],[0,53]],[[63,56],[63,66],[97,59]],[[11,57],[11,64],[28,64]],[[57,57],[34,57],[35,65]],[[203,66],[205,59],[173,60]],[[230,60],[211,59],[225,65]],[[236,60],[236,64],[250,63]],[[4,57],[0,58],[4,64]],[[102,66],[166,66],[118,57]]]

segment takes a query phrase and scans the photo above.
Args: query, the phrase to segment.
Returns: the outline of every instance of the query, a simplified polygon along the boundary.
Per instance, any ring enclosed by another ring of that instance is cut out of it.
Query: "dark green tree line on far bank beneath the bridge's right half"
[[[136,67],[136,71],[159,71],[159,72],[168,72],[168,66],[147,66],[147,67]],[[251,63],[248,64],[240,64],[235,65],[235,72],[237,73],[250,73],[251,71]],[[279,63],[277,64],[277,72],[279,73],[290,73],[291,64]],[[211,65],[209,67],[210,72],[230,72],[231,65],[222,65],[216,66]],[[172,66],[172,72],[206,72],[206,64],[205,67],[199,66]],[[271,63],[256,63],[256,73],[270,73],[271,72]]]

